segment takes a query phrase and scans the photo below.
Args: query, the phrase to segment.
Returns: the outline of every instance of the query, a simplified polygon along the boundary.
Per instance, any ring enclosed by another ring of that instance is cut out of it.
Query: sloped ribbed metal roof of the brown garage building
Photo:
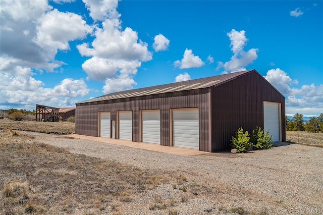
[[[144,95],[154,95],[154,94],[167,93],[167,92],[177,92],[177,91],[184,91],[184,90],[208,88],[208,87],[223,84],[227,81],[235,79],[238,76],[244,75],[244,74],[249,73],[251,71],[255,71],[255,70],[247,70],[247,71],[242,71],[242,72],[235,72],[235,73],[211,76],[211,77],[206,77],[206,78],[199,78],[199,79],[188,80],[188,81],[181,81],[181,82],[176,82],[176,83],[171,83],[171,84],[164,84],[164,85],[144,87],[144,88],[139,88],[139,89],[120,91],[120,92],[113,92],[113,93],[102,95],[102,96],[99,96],[96,98],[90,98],[88,100],[78,102],[77,104],[94,102],[94,101],[118,99],[118,98],[129,98],[129,97],[137,97],[137,96],[144,96]]]

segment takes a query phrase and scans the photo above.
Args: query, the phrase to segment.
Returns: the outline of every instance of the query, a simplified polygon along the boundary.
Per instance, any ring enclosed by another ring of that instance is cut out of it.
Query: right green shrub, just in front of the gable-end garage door
[[[252,131],[250,142],[253,149],[270,149],[273,146],[272,143],[273,135],[269,134],[269,130],[264,132],[260,127],[256,127],[255,130]]]

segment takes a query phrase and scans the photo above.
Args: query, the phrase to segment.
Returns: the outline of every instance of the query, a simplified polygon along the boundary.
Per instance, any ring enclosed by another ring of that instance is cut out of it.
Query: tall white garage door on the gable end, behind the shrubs
[[[263,102],[263,129],[273,135],[272,141],[279,141],[279,104]]]

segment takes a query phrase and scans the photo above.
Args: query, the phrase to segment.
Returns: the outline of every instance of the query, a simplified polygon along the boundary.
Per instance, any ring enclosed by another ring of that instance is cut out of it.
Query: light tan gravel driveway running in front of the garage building
[[[237,207],[245,214],[323,214],[323,148],[279,143],[244,154],[180,156],[59,135],[32,136],[71,153],[187,178],[176,189],[164,184],[134,196],[120,205],[125,214],[169,214],[171,209],[177,214],[227,214]],[[153,210],[154,203],[171,209]]]

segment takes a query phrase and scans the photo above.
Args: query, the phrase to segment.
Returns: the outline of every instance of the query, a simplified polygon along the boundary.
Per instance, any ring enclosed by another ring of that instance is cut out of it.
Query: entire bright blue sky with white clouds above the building
[[[323,113],[322,1],[0,2],[0,109],[255,69]]]

